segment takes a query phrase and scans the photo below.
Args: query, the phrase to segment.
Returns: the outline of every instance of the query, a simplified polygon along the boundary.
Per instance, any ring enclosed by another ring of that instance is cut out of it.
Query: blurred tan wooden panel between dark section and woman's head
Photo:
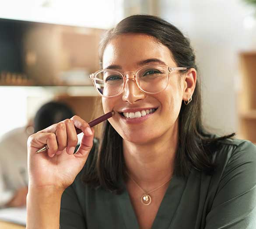
[[[104,31],[51,24],[30,28],[23,41],[26,75],[38,85],[63,85],[63,72],[99,70],[98,44]]]

